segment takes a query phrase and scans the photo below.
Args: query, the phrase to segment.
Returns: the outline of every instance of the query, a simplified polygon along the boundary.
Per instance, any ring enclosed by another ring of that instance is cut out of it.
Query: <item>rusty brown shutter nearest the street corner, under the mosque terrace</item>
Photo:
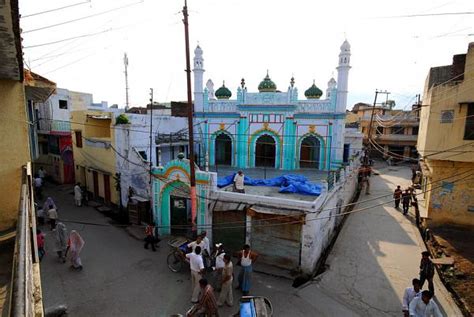
[[[302,217],[264,214],[252,209],[249,215],[252,217],[250,245],[260,254],[259,262],[288,270],[297,269],[300,266],[302,226],[296,222]]]

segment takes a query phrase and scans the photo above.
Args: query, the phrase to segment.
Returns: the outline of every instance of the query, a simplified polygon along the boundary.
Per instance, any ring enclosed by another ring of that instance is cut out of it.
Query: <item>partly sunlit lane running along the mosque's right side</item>
[[[410,184],[409,167],[383,165],[377,172],[371,177],[370,195],[361,193],[354,210],[389,201],[397,185]],[[350,308],[353,316],[401,316],[403,292],[418,278],[420,253],[426,250],[412,209],[405,217],[390,203],[350,215],[326,261],[328,269],[298,295],[310,302],[322,292]],[[438,275],[435,289],[445,315],[462,316]]]

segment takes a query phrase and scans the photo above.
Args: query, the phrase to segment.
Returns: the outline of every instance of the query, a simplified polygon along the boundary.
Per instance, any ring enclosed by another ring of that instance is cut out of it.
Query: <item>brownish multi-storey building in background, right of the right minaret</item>
[[[358,103],[352,113],[356,115],[360,131],[364,134],[364,144],[369,145],[369,127],[372,117],[372,155],[393,160],[410,160],[417,158],[416,140],[419,129],[418,105],[409,111],[392,109],[389,105],[372,105]],[[351,114],[351,120],[355,118]]]

